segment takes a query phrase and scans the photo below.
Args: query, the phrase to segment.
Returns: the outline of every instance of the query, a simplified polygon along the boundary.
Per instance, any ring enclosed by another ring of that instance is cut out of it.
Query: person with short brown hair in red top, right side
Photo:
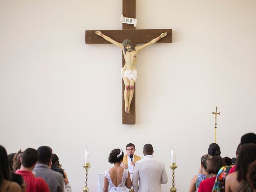
[[[216,175],[223,166],[225,166],[225,162],[220,156],[209,158],[207,163],[207,172],[210,174],[210,178],[203,180],[200,183],[198,192],[212,192]]]

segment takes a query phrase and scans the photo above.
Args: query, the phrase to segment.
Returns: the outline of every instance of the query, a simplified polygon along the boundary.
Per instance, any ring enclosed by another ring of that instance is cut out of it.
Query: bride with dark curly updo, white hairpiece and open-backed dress
[[[132,187],[129,171],[120,166],[123,157],[122,149],[113,149],[110,152],[108,162],[114,164],[114,167],[105,171],[104,192],[126,192],[124,186],[129,189]]]

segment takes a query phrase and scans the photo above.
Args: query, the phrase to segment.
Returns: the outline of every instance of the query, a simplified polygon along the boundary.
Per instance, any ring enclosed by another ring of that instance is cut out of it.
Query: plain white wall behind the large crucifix
[[[137,0],[137,29],[172,28],[172,44],[139,53],[136,125],[121,124],[121,51],[85,44],[85,30],[122,29],[122,0],[0,1],[0,144],[8,153],[51,146],[74,192],[84,187],[84,145],[92,145],[88,186],[110,168],[113,148],[146,143],[166,164],[178,145],[176,188],[188,189],[214,142],[233,157],[255,132],[256,1]],[[162,191],[169,191],[168,184]]]

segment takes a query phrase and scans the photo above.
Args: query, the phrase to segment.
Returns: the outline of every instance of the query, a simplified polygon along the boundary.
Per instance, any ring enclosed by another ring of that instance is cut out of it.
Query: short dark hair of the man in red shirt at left
[[[22,165],[24,167],[32,167],[38,160],[38,151],[32,148],[27,148],[22,154]]]

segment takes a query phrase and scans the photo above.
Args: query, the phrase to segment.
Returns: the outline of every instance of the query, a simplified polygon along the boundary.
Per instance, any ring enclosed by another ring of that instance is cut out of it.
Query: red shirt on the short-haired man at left
[[[50,192],[47,183],[40,177],[35,177],[31,171],[17,170],[27,184],[26,192]]]

